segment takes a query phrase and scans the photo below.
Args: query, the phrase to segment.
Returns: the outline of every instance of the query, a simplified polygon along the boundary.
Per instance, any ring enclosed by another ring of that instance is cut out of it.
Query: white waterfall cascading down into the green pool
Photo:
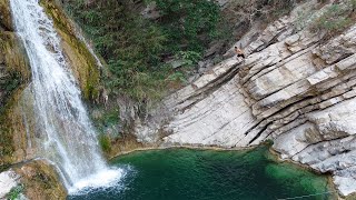
[[[117,181],[122,171],[109,169],[100,156],[52,20],[38,0],[11,0],[10,4],[32,71],[36,128],[43,141],[40,156],[59,168],[69,191]]]

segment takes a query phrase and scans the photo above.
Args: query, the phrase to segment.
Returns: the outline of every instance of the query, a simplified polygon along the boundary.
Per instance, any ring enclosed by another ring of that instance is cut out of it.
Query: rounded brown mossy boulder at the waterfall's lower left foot
[[[33,161],[14,169],[20,174],[23,194],[28,199],[66,199],[59,174],[44,161]]]

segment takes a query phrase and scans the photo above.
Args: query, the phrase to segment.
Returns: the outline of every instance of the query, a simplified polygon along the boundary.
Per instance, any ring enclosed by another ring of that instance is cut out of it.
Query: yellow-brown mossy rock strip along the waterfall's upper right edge
[[[100,88],[100,69],[96,58],[88,50],[86,43],[78,39],[72,21],[55,0],[42,0],[41,4],[53,19],[56,29],[62,39],[65,54],[79,81],[85,99],[96,99]]]

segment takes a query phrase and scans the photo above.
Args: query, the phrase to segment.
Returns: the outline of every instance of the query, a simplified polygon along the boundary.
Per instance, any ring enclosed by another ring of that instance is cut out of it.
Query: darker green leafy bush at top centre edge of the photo
[[[160,12],[159,24],[167,34],[167,50],[201,52],[217,37],[220,9],[207,0],[152,0]],[[184,48],[181,48],[184,47]]]

